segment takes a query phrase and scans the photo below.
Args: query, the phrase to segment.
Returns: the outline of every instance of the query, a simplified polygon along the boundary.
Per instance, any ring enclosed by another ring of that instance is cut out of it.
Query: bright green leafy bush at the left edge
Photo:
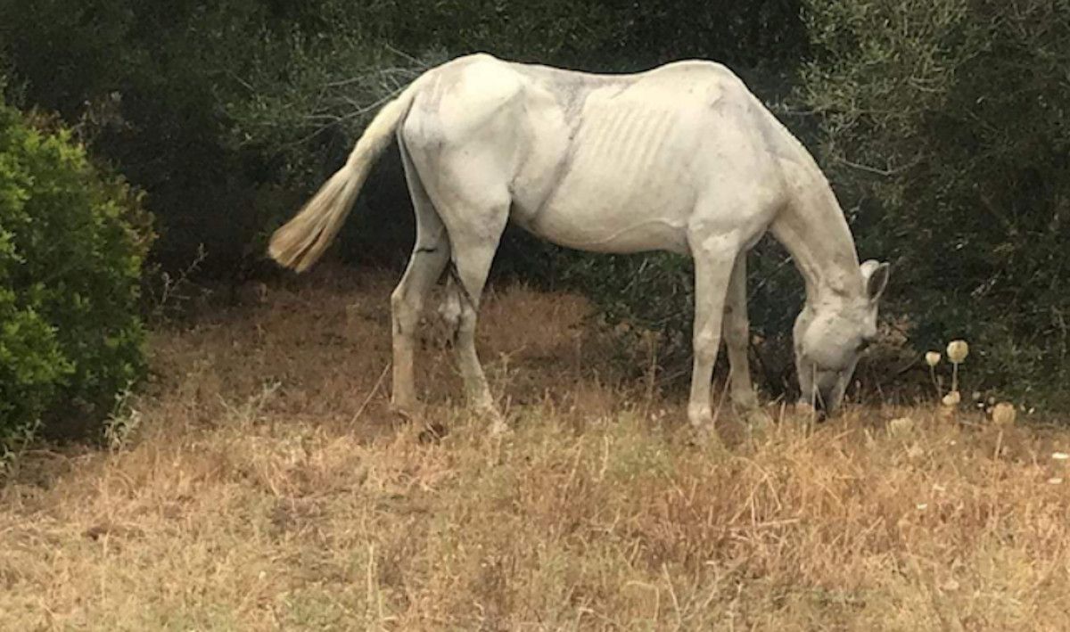
[[[0,435],[80,425],[141,373],[150,234],[139,196],[68,132],[0,103]]]

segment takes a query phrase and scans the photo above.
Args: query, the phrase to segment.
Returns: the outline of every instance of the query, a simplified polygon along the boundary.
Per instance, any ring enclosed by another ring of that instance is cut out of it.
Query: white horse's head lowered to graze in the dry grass
[[[858,296],[836,296],[807,305],[795,320],[795,367],[800,401],[831,414],[840,405],[858,357],[876,339],[876,314],[888,283],[888,264],[861,264]]]

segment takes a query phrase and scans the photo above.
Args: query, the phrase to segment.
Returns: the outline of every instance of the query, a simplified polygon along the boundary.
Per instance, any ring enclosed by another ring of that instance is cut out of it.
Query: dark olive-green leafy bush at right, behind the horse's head
[[[1070,2],[807,7],[801,97],[862,246],[896,258],[886,313],[921,350],[973,341],[981,389],[1070,404]]]

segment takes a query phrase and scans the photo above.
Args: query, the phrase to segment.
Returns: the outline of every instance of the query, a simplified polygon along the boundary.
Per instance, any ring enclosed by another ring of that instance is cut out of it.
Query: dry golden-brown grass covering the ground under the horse
[[[855,409],[745,440],[725,413],[719,452],[582,300],[522,288],[482,325],[515,433],[456,406],[433,326],[406,423],[376,388],[391,280],[157,333],[116,449],[0,489],[0,628],[1070,629],[1070,433]]]

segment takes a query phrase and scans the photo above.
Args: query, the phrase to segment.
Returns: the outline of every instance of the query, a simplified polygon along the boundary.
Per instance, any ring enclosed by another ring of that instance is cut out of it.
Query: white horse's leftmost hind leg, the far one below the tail
[[[449,238],[403,145],[401,158],[416,214],[416,243],[401,281],[391,294],[394,342],[391,404],[400,412],[413,413],[417,405],[413,369],[416,327],[424,299],[449,261]]]

